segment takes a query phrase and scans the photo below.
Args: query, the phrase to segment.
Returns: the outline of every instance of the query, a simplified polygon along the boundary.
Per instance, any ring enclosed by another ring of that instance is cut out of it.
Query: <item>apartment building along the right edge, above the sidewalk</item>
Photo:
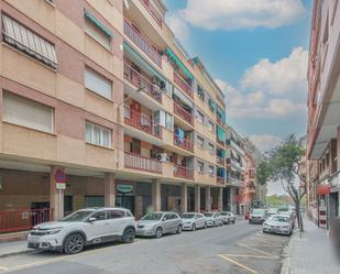
[[[314,1],[308,64],[307,193],[320,227],[339,216],[340,8]]]

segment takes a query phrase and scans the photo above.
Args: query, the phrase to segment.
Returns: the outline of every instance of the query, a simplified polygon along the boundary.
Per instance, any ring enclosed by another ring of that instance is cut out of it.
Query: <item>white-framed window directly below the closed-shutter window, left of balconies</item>
[[[86,122],[85,140],[90,144],[111,147],[111,130]]]

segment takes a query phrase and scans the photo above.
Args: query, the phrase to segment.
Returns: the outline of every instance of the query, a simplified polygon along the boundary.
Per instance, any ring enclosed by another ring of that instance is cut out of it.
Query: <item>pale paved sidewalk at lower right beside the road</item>
[[[339,274],[340,264],[333,257],[327,231],[319,229],[307,218],[304,219],[305,232],[299,238],[295,230],[285,252],[282,274]]]

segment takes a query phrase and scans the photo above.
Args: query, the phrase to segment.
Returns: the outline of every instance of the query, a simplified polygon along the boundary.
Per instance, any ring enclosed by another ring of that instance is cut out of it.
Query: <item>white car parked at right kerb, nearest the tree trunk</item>
[[[293,232],[289,217],[273,215],[263,222],[263,232],[290,235]]]

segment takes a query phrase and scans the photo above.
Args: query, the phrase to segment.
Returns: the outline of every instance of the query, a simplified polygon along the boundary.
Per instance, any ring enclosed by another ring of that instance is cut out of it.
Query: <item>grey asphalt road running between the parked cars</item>
[[[111,243],[76,255],[35,252],[0,259],[0,273],[17,274],[215,274],[279,273],[287,237],[263,234],[261,226],[235,224],[161,239]]]

